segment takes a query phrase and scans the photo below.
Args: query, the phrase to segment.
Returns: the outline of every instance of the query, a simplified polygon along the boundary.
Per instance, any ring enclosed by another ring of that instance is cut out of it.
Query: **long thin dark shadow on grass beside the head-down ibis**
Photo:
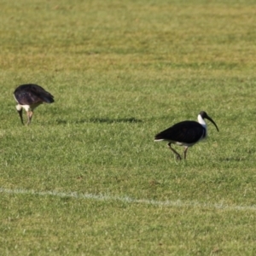
[[[123,118],[123,119],[109,119],[109,118],[90,118],[90,119],[79,119],[79,120],[63,120],[63,119],[57,119],[56,121],[57,125],[66,125],[67,123],[73,123],[73,124],[84,124],[84,123],[98,123],[98,124],[114,124],[114,123],[143,123],[142,119],[136,119],[134,117],[131,118]]]

